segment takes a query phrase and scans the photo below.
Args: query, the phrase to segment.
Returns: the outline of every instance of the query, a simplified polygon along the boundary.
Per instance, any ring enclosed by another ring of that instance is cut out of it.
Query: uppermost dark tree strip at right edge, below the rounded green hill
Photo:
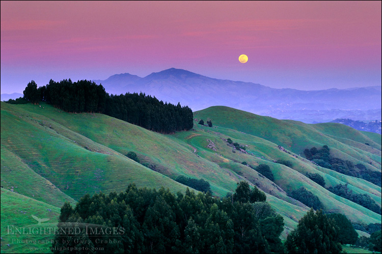
[[[382,186],[381,172],[372,171],[362,164],[354,165],[348,160],[333,157],[330,155],[330,149],[327,145],[322,146],[322,149],[317,149],[316,147],[312,147],[311,149],[306,148],[304,154],[308,160],[315,162],[323,168],[332,169],[341,174],[362,178],[379,187]]]

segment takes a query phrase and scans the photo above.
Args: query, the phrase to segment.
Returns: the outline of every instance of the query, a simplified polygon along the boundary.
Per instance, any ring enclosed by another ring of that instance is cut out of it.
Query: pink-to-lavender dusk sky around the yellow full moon
[[[274,88],[381,85],[381,40],[381,1],[1,1],[1,93],[172,67]]]

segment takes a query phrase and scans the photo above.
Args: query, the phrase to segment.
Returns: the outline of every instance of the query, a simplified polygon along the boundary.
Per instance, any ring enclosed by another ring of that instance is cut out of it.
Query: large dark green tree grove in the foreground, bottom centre
[[[169,189],[157,191],[133,184],[120,194],[86,195],[74,208],[69,203],[61,208],[60,234],[52,241],[51,250],[64,253],[73,247],[74,253],[81,252],[81,247],[83,252],[102,248],[102,253],[283,252],[283,217],[265,200],[253,200],[253,192],[247,182],[240,182],[233,195],[222,199],[188,189],[185,194],[174,195]],[[88,227],[77,232],[68,225]],[[103,228],[103,233],[97,234]],[[84,251],[86,248],[89,250]]]

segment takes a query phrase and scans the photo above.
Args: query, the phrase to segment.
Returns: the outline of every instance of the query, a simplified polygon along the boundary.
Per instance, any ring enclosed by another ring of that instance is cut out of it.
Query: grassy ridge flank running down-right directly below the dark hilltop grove
[[[155,165],[159,173],[170,178],[186,175],[209,179],[215,195],[226,195],[236,187],[236,176],[229,175],[216,164],[194,154],[191,147],[184,143],[179,144],[166,135],[102,114],[69,114],[48,105],[45,105],[44,109],[33,105],[19,105],[19,108],[45,116],[49,118],[47,121],[54,119],[73,133],[78,133],[119,154],[134,151],[141,162]]]

